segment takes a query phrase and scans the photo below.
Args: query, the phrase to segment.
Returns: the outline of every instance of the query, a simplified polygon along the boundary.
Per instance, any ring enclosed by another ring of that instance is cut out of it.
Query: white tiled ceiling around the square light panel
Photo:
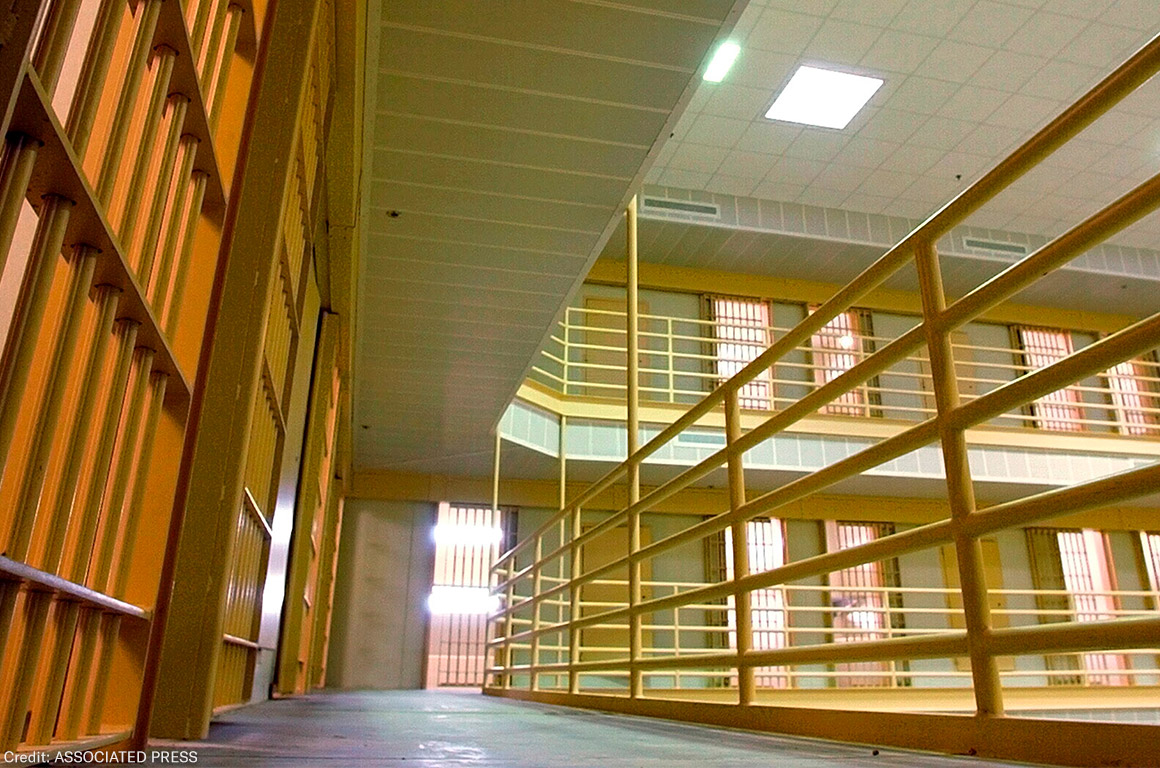
[[[753,0],[646,181],[925,218],[1160,32],[1155,0]],[[885,80],[844,130],[766,119],[800,64]],[[1160,169],[1153,80],[970,219],[1053,236]],[[959,177],[960,176],[960,177]],[[1160,217],[1116,238],[1154,248]]]

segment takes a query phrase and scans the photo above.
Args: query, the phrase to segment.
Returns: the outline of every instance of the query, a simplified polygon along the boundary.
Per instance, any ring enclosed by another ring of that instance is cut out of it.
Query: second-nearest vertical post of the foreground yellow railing
[[[741,403],[738,391],[731,389],[725,393],[725,443],[732,447],[741,439]],[[737,510],[745,505],[745,468],[741,454],[731,451],[728,455],[728,502],[734,517],[731,523],[733,545],[733,580],[749,575],[749,530],[746,521],[735,516]],[[733,593],[734,615],[737,616],[737,655],[740,660],[753,647],[753,611],[749,593]],[[753,667],[737,668],[738,703],[742,707],[752,704],[756,697],[756,674]]]

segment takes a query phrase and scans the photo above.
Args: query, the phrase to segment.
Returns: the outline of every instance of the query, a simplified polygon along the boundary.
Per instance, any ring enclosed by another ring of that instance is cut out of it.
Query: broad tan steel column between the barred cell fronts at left
[[[242,135],[241,173],[222,233],[225,266],[210,310],[219,332],[210,332],[212,347],[204,353],[190,403],[161,574],[161,584],[172,586],[158,594],[137,723],[142,734],[204,738],[209,729],[229,557],[261,385],[269,284],[318,7],[318,0],[281,0],[271,7],[254,73],[258,89]]]

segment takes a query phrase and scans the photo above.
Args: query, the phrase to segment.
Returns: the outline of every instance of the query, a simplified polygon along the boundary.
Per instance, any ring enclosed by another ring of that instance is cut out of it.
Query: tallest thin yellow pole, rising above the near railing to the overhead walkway
[[[624,212],[625,231],[628,232],[628,451],[629,451],[629,505],[640,501],[640,461],[636,457],[640,448],[640,303],[637,284],[637,198],[633,195]],[[641,601],[640,560],[636,559],[640,551],[640,513],[629,514],[629,695],[638,698],[644,693],[644,679],[637,662],[640,661],[640,647],[644,632],[640,629],[640,614],[636,607]]]

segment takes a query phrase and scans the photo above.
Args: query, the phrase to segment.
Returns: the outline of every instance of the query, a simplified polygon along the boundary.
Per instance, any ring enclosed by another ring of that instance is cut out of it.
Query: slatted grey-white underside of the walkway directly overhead
[[[459,473],[745,3],[371,5],[354,461]]]

